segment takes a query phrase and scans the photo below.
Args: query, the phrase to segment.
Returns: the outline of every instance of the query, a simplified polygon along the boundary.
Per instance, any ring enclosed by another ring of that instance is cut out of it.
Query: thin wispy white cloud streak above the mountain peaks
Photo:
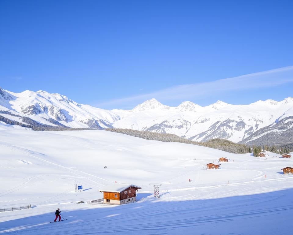
[[[202,99],[212,95],[220,95],[228,91],[241,91],[248,89],[262,89],[293,82],[293,66],[272,69],[259,73],[219,79],[211,82],[184,84],[172,86],[158,91],[113,99],[98,103],[98,107],[121,107],[141,103],[147,99],[155,98],[160,102],[172,100]]]

